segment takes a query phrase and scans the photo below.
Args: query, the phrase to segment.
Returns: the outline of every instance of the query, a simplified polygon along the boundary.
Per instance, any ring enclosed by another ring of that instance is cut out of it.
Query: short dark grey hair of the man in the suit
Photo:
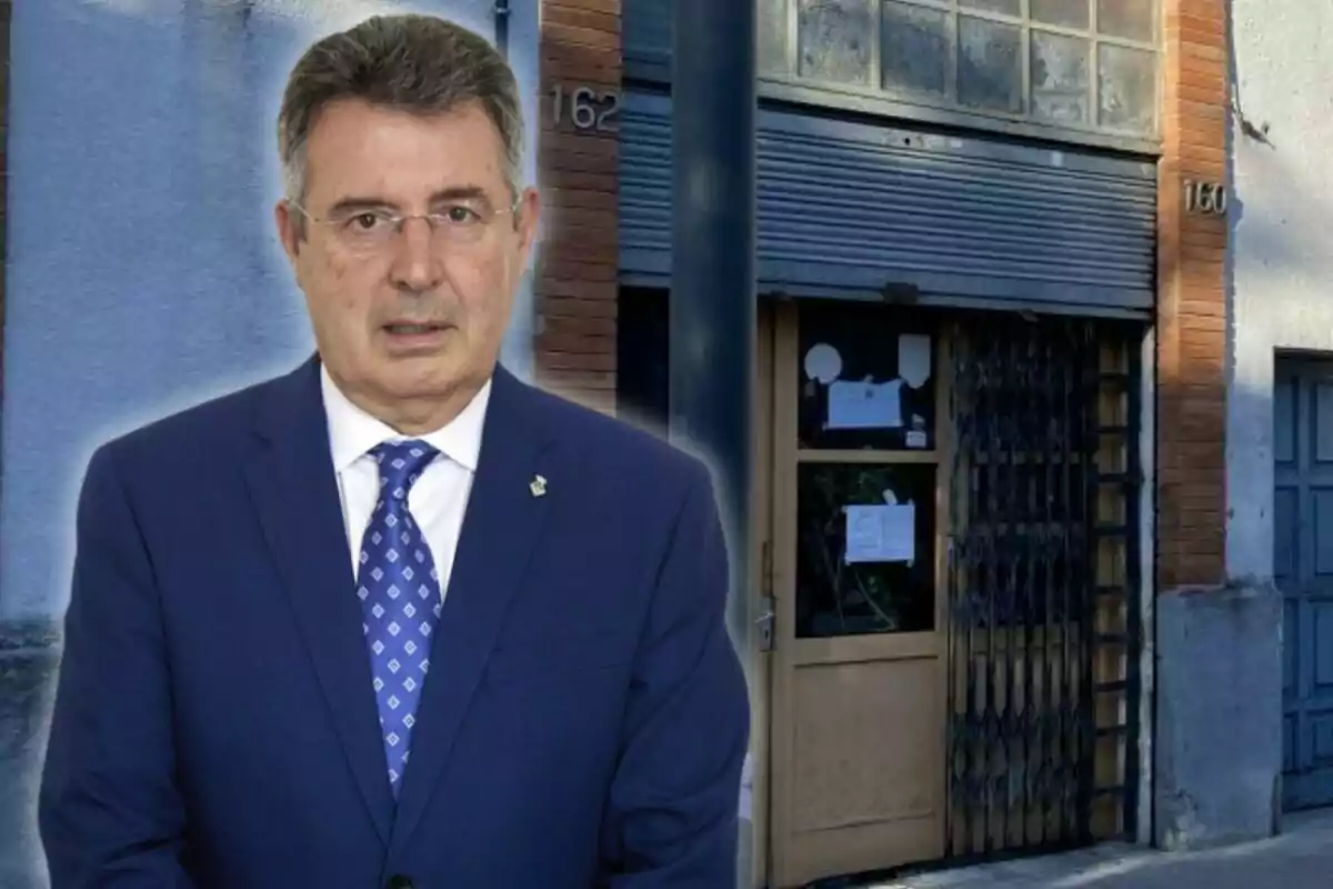
[[[288,200],[305,196],[305,143],[331,103],[360,99],[421,115],[481,103],[500,132],[513,197],[523,180],[523,111],[513,71],[480,35],[425,15],[367,19],[329,35],[296,63],[277,116]]]

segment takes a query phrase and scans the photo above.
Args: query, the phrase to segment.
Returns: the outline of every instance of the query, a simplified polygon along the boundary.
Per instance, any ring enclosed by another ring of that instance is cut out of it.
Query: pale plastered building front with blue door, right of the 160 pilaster
[[[1308,808],[1333,804],[1333,541],[1324,533],[1333,161],[1321,148],[1333,137],[1324,112],[1333,9],[1233,0],[1232,16],[1226,573],[1274,584],[1282,604],[1280,637],[1244,644],[1281,657],[1281,798]]]

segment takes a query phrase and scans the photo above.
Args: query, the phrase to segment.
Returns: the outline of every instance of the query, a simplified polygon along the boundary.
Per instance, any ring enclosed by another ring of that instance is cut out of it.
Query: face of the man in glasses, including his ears
[[[285,201],[276,216],[321,360],[364,409],[429,428],[495,367],[536,195],[515,205],[480,104],[437,116],[332,104],[308,137],[305,169],[309,217]],[[441,217],[433,232],[425,219],[395,225],[425,213]]]

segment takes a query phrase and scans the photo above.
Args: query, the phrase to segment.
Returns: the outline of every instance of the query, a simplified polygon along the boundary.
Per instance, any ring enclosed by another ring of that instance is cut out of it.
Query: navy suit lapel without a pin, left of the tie
[[[348,764],[388,844],[393,796],[319,379],[312,359],[269,389],[256,427],[264,445],[247,480]]]

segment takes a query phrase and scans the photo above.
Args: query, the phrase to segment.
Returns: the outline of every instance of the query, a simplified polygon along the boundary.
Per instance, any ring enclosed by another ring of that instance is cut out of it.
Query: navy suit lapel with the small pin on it
[[[536,474],[555,481],[557,453],[545,446],[532,393],[497,368],[481,456],[453,572],[431,648],[431,674],[412,729],[412,761],[399,792],[389,856],[417,826],[449,757],[464,713],[519,589],[551,496],[535,496]]]

